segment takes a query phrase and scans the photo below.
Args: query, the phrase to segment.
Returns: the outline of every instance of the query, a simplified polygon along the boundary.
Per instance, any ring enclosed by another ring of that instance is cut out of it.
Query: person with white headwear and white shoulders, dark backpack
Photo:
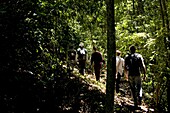
[[[81,42],[79,48],[77,49],[77,60],[79,66],[79,73],[84,75],[86,61],[87,61],[87,50],[84,48],[84,44]]]

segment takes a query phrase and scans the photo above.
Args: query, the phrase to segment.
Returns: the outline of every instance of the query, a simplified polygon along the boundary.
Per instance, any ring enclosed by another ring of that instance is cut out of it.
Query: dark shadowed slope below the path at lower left
[[[116,113],[133,106],[115,105]],[[3,72],[0,106],[4,113],[104,113],[105,94],[82,78],[67,73],[38,77],[27,72]]]

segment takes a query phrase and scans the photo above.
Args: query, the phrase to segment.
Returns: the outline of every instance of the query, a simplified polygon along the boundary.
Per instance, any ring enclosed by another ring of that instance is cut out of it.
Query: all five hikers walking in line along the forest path
[[[77,62],[79,73],[84,75],[88,54],[82,42],[79,44],[79,48],[77,50],[74,50],[73,48],[71,49],[69,52],[69,58],[72,64],[73,62]],[[103,59],[102,54],[94,46],[90,59],[90,67],[91,69],[94,69],[97,81],[100,81],[102,66],[106,67],[105,60]],[[74,66],[72,67],[72,69],[74,69]],[[142,102],[141,73],[144,74],[143,79],[145,80],[146,68],[144,59],[141,54],[136,53],[135,46],[132,45],[129,47],[129,53],[124,58],[121,57],[121,51],[116,50],[116,93],[119,93],[120,80],[121,77],[124,76],[130,83],[135,107],[141,105]]]

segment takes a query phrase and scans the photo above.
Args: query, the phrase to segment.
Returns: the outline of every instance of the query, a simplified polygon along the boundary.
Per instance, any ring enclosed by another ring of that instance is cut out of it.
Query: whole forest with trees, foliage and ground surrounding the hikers
[[[170,111],[169,0],[1,0],[0,112],[132,113],[128,82],[115,92],[116,50],[144,58],[141,113]],[[83,42],[106,61],[101,81],[71,71],[69,50]],[[143,75],[141,75],[143,76]],[[136,111],[137,112],[137,111]]]

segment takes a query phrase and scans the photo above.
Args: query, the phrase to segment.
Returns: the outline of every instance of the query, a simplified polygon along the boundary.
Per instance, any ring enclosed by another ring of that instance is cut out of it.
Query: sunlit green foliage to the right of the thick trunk
[[[139,2],[121,2],[116,6],[117,49],[127,53],[132,44],[144,57],[147,67],[145,92],[154,94],[154,102],[159,110],[167,108],[167,63],[168,49],[165,39],[167,28],[163,27],[159,1],[144,1],[144,12],[139,14]],[[169,7],[168,7],[169,8]],[[159,97],[159,98],[158,98]],[[162,106],[160,106],[162,105]],[[165,110],[166,111],[166,110]]]

